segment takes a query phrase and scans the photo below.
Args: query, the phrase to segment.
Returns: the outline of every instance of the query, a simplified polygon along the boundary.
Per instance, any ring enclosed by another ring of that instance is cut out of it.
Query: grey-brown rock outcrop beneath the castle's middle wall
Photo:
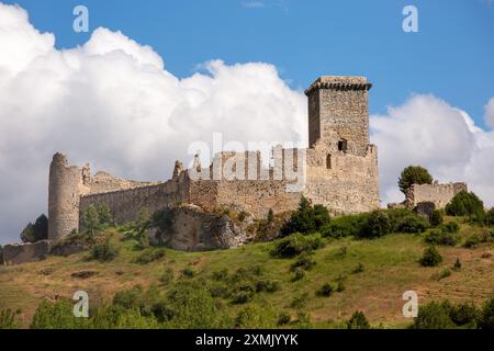
[[[242,220],[225,214],[204,212],[194,205],[186,205],[169,211],[170,226],[150,230],[154,245],[165,245],[176,250],[206,251],[228,249],[246,244],[247,227],[252,217],[247,215]]]

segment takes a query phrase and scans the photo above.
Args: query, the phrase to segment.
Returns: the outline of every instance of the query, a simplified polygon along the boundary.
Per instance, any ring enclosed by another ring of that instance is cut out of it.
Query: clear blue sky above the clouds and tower
[[[494,2],[427,1],[58,1],[16,0],[58,48],[83,44],[72,9],[90,11],[90,31],[120,30],[188,77],[201,63],[265,61],[293,89],[321,75],[363,75],[374,83],[371,113],[384,113],[413,93],[434,93],[485,127],[494,95]],[[402,31],[404,5],[418,9],[418,33]]]

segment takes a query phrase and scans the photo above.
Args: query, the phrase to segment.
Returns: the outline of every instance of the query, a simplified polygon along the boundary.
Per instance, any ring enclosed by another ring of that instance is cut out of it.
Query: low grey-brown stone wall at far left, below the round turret
[[[34,244],[12,244],[3,247],[3,262],[7,265],[37,262],[49,254],[50,244],[47,240]]]

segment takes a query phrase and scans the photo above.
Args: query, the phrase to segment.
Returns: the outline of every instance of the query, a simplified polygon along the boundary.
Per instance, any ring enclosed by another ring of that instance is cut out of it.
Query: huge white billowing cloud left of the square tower
[[[27,13],[0,4],[0,240],[15,240],[46,211],[48,165],[74,163],[143,180],[166,180],[188,146],[224,140],[297,140],[305,98],[274,66],[213,60],[178,79],[161,57],[120,32],[96,30],[58,50]]]

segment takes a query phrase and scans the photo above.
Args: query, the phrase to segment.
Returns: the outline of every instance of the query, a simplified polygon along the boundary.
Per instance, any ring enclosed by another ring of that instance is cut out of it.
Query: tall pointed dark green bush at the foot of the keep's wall
[[[283,236],[293,233],[315,233],[329,223],[329,213],[322,205],[312,206],[307,199],[302,196],[299,210],[295,211],[290,219],[281,228]]]

